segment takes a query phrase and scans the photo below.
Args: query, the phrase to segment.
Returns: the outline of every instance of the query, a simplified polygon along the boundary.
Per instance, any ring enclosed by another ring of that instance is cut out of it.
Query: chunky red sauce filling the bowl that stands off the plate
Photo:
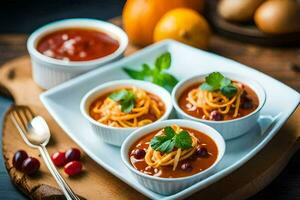
[[[119,42],[93,29],[70,28],[52,32],[40,39],[37,50],[52,58],[88,61],[112,54]]]

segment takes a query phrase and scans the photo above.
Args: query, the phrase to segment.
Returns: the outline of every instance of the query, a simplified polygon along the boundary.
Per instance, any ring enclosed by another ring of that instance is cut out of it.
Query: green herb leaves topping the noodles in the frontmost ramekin
[[[171,152],[174,147],[189,149],[192,147],[192,137],[187,131],[176,134],[171,127],[164,128],[164,135],[155,136],[150,141],[151,148],[162,153]]]

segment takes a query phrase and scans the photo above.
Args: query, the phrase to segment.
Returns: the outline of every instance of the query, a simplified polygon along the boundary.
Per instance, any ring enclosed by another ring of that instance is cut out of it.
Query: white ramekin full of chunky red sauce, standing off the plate
[[[121,28],[95,19],[53,22],[27,41],[33,79],[45,89],[122,57],[127,45]]]

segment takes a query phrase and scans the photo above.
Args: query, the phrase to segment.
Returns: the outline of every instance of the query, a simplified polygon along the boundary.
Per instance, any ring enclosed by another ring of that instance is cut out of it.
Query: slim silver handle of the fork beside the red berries
[[[56,180],[57,184],[61,188],[67,200],[80,200],[80,198],[73,192],[70,186],[66,183],[63,177],[59,174],[56,167],[53,165],[52,160],[49,156],[49,153],[44,145],[39,146],[39,151],[42,155],[42,158],[45,161],[46,166],[51,172],[52,176]]]

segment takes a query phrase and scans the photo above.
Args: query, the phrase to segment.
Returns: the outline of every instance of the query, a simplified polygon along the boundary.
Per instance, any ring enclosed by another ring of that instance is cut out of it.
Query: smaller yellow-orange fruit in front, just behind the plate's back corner
[[[211,31],[207,21],[196,11],[176,8],[167,12],[154,29],[154,41],[174,39],[185,44],[207,49]]]

